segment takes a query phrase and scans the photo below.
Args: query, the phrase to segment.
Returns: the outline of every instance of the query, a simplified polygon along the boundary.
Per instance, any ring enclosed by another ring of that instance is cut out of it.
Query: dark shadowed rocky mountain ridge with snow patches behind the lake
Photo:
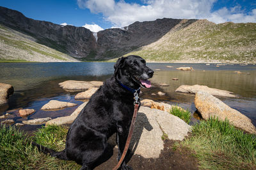
[[[94,33],[84,27],[33,20],[19,11],[0,7],[0,24],[35,38],[37,43],[81,60],[120,57],[157,41],[180,21],[163,18],[150,22],[135,22],[122,29],[106,29]],[[188,20],[184,25],[195,21]]]

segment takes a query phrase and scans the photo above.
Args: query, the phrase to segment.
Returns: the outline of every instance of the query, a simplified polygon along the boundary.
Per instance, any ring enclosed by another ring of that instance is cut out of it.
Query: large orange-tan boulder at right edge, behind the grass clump
[[[230,124],[243,129],[246,132],[256,134],[255,126],[250,118],[244,116],[239,111],[227,106],[216,97],[207,92],[197,92],[195,95],[195,107],[205,120],[210,117],[218,117],[220,120],[227,118]]]

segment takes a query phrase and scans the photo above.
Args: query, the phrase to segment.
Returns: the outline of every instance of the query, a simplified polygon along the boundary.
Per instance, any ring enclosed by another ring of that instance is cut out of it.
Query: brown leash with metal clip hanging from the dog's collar
[[[135,120],[136,120],[137,113],[138,113],[138,108],[139,108],[139,105],[140,105],[140,103],[138,102],[139,94],[138,94],[137,90],[135,90],[133,95],[134,95],[134,100],[135,100],[134,101],[134,112],[133,112],[133,115],[132,115],[132,122],[131,122],[131,126],[130,126],[130,129],[129,129],[129,134],[128,134],[128,137],[127,137],[127,140],[126,140],[126,143],[125,143],[125,148],[124,148],[124,151],[122,153],[122,157],[120,158],[118,164],[112,170],[117,170],[121,166],[121,164],[122,164],[122,162],[125,158],[125,155],[127,153],[127,150],[129,148],[130,142],[131,142],[132,132],[133,132],[133,129],[134,129]]]

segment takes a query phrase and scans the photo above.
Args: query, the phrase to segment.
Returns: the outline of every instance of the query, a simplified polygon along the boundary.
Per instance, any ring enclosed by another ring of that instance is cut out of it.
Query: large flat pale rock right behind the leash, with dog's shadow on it
[[[168,135],[168,139],[182,140],[188,135],[189,129],[190,126],[179,117],[141,106],[129,148],[144,158],[157,158],[164,148],[161,139],[163,132]]]

